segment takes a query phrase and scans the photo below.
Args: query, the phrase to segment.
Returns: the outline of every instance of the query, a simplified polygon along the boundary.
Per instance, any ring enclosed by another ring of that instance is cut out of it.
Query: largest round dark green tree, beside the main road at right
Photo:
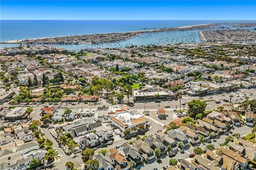
[[[205,101],[193,99],[188,103],[188,113],[191,117],[195,117],[199,113],[204,113],[206,106]]]

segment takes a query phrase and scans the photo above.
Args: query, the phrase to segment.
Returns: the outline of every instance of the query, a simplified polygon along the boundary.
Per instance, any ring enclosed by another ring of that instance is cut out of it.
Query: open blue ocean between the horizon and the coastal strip
[[[246,20],[1,20],[1,41],[93,33],[138,31],[204,23],[255,22]]]

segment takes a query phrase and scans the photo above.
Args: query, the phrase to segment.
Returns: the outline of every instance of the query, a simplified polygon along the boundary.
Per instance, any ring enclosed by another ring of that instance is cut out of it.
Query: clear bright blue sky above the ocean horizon
[[[256,1],[9,1],[1,20],[256,20]]]

